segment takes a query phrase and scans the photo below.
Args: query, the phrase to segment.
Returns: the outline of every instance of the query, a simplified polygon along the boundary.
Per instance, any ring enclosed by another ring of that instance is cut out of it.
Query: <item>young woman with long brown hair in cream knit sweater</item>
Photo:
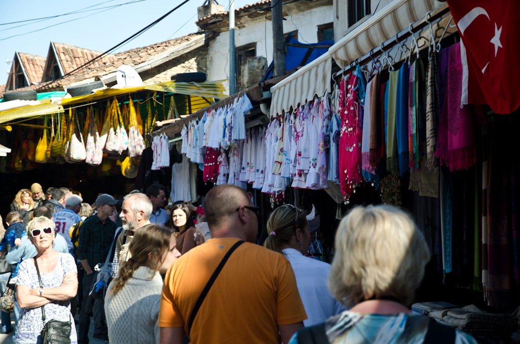
[[[105,298],[110,344],[159,343],[161,274],[180,257],[173,231],[158,224],[141,227],[130,243],[132,258],[119,269]]]

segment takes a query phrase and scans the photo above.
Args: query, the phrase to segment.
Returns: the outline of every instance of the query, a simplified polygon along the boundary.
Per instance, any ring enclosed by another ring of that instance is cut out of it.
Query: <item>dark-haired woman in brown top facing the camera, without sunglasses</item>
[[[176,245],[180,253],[184,255],[190,249],[197,246],[197,242],[193,237],[193,233],[195,233],[195,225],[193,224],[190,210],[186,204],[174,204],[168,225],[175,233],[178,233],[176,234]]]

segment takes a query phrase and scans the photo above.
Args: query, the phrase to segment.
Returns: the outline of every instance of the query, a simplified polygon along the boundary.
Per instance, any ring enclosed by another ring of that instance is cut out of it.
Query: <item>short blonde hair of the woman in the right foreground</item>
[[[358,206],[336,232],[329,289],[346,307],[393,296],[411,305],[430,250],[404,211],[391,205]]]

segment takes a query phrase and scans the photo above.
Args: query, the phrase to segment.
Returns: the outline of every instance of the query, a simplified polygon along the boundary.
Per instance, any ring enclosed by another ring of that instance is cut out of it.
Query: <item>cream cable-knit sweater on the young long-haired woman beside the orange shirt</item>
[[[161,275],[139,267],[116,295],[110,292],[112,286],[113,283],[107,293],[110,296],[105,299],[110,344],[159,343]]]

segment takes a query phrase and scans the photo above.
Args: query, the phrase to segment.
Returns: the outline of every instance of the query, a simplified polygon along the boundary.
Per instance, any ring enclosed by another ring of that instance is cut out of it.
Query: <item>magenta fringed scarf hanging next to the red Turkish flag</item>
[[[460,108],[462,63],[460,42],[450,48],[448,83],[435,156],[451,171],[467,169],[476,163],[473,117],[469,106]]]

